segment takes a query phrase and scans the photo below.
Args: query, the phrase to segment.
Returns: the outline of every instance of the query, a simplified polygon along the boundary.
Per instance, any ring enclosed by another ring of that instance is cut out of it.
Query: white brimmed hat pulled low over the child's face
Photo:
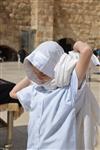
[[[49,77],[54,77],[54,67],[64,53],[63,48],[54,41],[40,44],[30,55],[25,58],[24,66],[28,76],[32,74],[32,65]],[[31,64],[30,64],[30,63]],[[31,67],[30,67],[31,66]]]

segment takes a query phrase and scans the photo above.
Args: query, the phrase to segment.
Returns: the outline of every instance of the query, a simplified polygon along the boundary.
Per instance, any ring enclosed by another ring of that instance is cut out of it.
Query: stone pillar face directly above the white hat
[[[54,0],[38,1],[36,45],[53,40]]]

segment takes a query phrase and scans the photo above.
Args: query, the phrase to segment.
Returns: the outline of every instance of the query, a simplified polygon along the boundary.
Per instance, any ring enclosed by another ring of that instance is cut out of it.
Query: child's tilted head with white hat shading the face
[[[29,79],[43,84],[54,78],[54,68],[64,53],[62,47],[54,41],[40,44],[24,61]]]

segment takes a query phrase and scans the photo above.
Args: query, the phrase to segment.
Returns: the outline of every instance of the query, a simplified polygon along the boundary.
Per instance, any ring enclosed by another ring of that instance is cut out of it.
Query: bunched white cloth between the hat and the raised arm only
[[[69,85],[71,74],[77,63],[77,59],[73,59],[70,55],[64,53],[57,65],[54,68],[55,71],[55,84],[57,87],[63,87]]]

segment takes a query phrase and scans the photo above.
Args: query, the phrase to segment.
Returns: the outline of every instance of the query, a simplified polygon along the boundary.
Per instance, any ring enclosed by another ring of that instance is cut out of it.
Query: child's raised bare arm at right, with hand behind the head
[[[76,64],[76,73],[79,83],[83,81],[86,76],[86,72],[89,66],[89,62],[92,56],[92,49],[87,43],[78,41],[73,46],[74,51],[80,53],[79,61]]]

